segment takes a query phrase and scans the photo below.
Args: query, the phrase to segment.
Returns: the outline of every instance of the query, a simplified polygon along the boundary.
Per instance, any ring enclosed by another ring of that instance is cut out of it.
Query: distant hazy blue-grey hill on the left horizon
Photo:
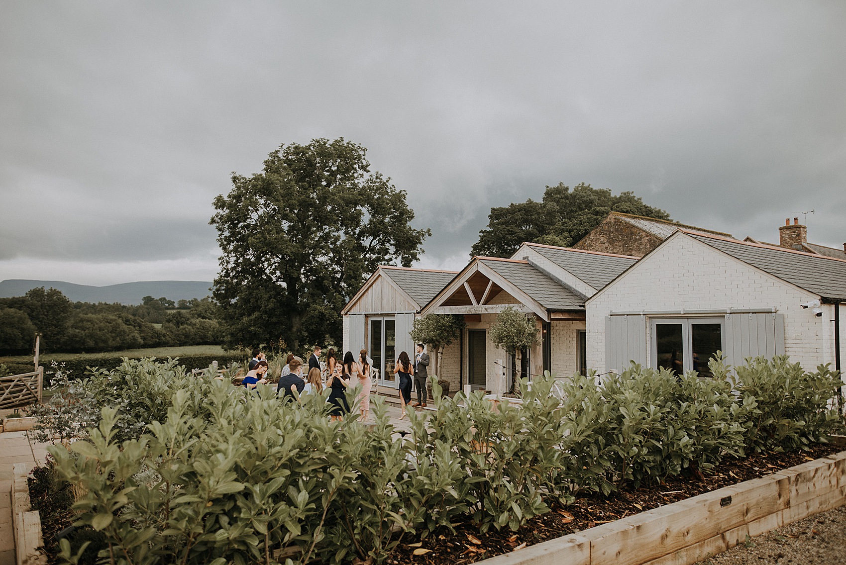
[[[0,298],[23,296],[32,288],[56,288],[72,302],[119,302],[141,304],[145,296],[171,300],[201,299],[211,295],[211,282],[205,281],[141,281],[110,284],[107,287],[92,287],[64,281],[28,281],[10,278],[0,282]]]

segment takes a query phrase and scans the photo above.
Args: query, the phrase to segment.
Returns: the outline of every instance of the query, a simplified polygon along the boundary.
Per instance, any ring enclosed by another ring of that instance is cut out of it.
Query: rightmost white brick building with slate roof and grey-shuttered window
[[[587,362],[601,373],[630,360],[699,369],[695,350],[718,345],[732,365],[788,354],[806,370],[833,368],[831,303],[844,294],[846,261],[680,230],[587,300]]]

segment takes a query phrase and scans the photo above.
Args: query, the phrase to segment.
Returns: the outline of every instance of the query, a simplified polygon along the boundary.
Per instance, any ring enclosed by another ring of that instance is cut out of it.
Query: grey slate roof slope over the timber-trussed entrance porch
[[[585,299],[574,290],[563,287],[527,261],[496,260],[479,257],[500,277],[528,294],[547,310],[585,310]]]

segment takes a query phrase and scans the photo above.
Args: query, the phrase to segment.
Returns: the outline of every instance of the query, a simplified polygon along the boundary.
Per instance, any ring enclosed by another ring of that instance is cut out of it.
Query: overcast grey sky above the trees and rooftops
[[[559,182],[839,247],[844,102],[841,0],[4,0],[0,280],[211,281],[211,200],[316,137],[408,192],[424,266]]]

